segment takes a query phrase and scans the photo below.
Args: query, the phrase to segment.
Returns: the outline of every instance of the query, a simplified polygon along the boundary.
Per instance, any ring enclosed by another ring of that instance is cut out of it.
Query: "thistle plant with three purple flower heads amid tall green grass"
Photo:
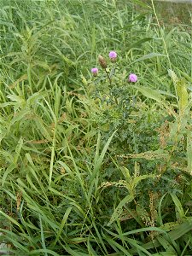
[[[104,72],[92,68],[91,73],[95,84],[92,96],[96,101],[100,100],[102,107],[99,125],[107,138],[117,130],[114,141],[118,148],[126,148],[130,138],[133,140],[134,137],[134,123],[129,124],[131,114],[139,111],[136,96],[132,94],[133,85],[138,83],[137,75],[120,68],[118,54],[113,50],[108,58],[99,55],[98,62]]]

